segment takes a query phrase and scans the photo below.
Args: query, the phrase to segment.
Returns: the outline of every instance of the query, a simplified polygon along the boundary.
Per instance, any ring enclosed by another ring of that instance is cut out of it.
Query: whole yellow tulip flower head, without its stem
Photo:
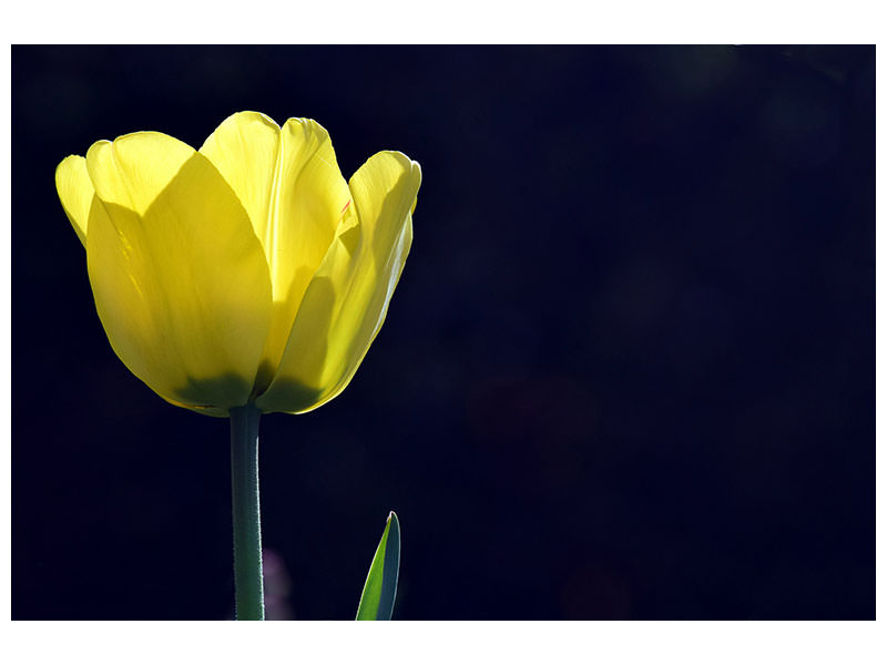
[[[380,152],[345,182],[329,134],[235,113],[200,151],[157,132],[55,171],[116,355],[163,399],[299,413],[348,385],[412,242],[416,162]]]

